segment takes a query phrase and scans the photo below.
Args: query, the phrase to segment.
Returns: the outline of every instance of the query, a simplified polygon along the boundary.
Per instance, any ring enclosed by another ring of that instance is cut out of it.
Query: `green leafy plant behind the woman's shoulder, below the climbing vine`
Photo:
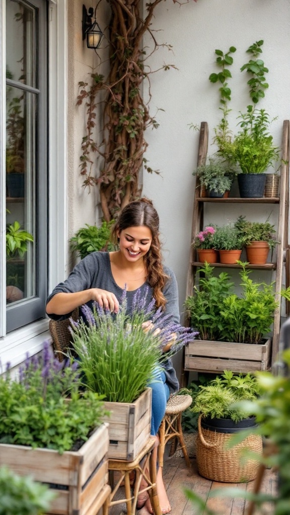
[[[114,245],[109,243],[110,227],[114,221],[103,221],[101,227],[85,224],[85,227],[78,229],[75,236],[70,239],[72,250],[80,256],[80,259],[98,250],[115,250]]]

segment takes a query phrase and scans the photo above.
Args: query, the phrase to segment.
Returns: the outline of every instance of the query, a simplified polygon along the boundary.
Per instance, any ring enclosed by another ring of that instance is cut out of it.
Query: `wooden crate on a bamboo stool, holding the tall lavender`
[[[111,412],[109,422],[109,452],[111,459],[133,461],[150,436],[152,390],[147,388],[132,403],[105,402]]]

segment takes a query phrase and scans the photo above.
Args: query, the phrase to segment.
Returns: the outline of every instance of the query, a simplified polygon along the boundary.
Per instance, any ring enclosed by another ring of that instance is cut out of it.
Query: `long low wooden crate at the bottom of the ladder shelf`
[[[271,364],[271,339],[264,344],[194,340],[185,347],[185,370],[255,372]]]

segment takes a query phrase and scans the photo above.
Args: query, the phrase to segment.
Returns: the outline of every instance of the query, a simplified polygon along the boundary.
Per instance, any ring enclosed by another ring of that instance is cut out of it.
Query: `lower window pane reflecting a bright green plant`
[[[6,108],[6,299],[37,293],[35,133],[37,95],[7,87]]]

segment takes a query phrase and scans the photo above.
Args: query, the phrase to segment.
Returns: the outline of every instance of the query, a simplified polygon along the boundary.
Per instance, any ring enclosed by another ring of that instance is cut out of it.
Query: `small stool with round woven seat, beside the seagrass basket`
[[[165,416],[159,427],[159,446],[158,446],[158,462],[160,467],[163,467],[163,456],[165,445],[171,438],[174,438],[170,456],[176,451],[177,443],[179,441],[182,449],[186,465],[190,468],[190,461],[187,454],[185,441],[183,438],[181,417],[182,412],[190,406],[192,398],[190,395],[174,395],[167,401]]]

